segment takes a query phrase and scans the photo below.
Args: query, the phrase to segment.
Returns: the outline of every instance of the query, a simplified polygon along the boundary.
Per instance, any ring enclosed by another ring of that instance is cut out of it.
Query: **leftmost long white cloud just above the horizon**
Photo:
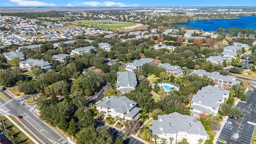
[[[40,1],[23,1],[23,0],[10,0],[12,3],[17,3],[20,6],[54,6],[54,3],[45,3]]]

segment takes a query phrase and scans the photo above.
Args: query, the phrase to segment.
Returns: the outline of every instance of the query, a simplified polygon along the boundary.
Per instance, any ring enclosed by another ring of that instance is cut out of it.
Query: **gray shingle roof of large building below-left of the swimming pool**
[[[128,99],[127,97],[114,97],[110,96],[107,99],[99,103],[99,107],[114,109],[118,113],[125,114],[127,111],[131,111],[133,107],[137,105],[136,102]]]

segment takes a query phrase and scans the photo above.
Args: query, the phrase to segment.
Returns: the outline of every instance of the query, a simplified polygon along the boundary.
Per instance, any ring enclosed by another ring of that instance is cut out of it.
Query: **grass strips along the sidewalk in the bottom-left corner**
[[[31,135],[31,137],[37,140],[34,137],[34,135],[32,135],[27,129],[25,129],[25,127],[16,118],[14,118],[13,116],[10,116],[10,117],[13,119],[14,122],[16,122],[20,127],[22,127],[23,130],[25,130],[29,135]],[[20,129],[18,129],[18,127],[15,126],[11,121],[9,121],[9,119],[7,119],[5,116],[0,116],[0,119],[1,119],[1,122],[4,120],[4,124],[7,131],[9,131],[10,134],[13,135],[13,137],[16,137],[18,143],[34,143],[27,137],[27,135],[21,132]]]

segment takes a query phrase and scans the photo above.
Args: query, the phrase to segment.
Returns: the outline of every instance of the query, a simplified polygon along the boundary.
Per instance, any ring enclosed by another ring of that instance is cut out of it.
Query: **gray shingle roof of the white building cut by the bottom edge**
[[[153,134],[187,132],[189,134],[207,135],[201,122],[196,121],[194,116],[171,113],[169,115],[160,115],[158,120],[152,120],[152,126],[149,129]]]

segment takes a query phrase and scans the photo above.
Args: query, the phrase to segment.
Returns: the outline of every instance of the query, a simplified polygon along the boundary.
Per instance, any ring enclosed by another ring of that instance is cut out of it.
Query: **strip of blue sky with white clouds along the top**
[[[0,6],[234,6],[256,5],[256,0],[0,0]]]

